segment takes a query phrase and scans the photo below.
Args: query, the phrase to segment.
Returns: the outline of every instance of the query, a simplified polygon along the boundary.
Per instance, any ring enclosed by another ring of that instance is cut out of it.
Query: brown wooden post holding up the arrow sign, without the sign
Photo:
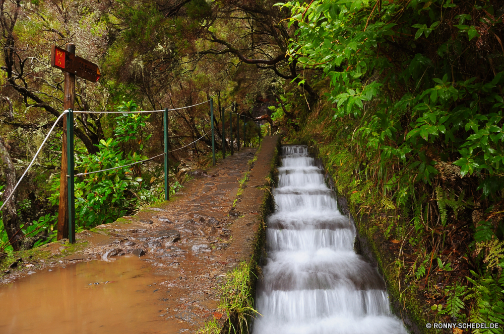
[[[75,54],[75,44],[67,43],[66,50]],[[74,109],[75,103],[75,74],[65,72],[65,87],[63,93],[63,108]],[[73,123],[72,123],[73,126]],[[57,239],[68,238],[68,157],[67,157],[67,115],[63,116],[63,134],[61,135],[61,172],[59,176],[59,206],[58,206],[58,234]]]

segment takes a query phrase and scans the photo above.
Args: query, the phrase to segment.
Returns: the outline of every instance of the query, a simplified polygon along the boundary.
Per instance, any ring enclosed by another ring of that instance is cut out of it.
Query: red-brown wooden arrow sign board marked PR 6
[[[93,82],[101,75],[98,65],[55,45],[51,46],[51,66]]]

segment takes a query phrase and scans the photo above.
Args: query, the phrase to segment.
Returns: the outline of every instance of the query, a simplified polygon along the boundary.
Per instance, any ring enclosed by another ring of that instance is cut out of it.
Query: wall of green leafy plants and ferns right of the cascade
[[[320,135],[336,170],[351,164],[340,187],[400,245],[399,286],[425,289],[440,318],[502,323],[504,6],[280,6],[299,27],[290,55],[330,87],[306,131]]]

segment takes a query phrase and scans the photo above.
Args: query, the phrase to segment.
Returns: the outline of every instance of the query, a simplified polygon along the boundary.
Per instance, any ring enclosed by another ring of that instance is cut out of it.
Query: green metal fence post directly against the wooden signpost
[[[67,114],[68,239],[75,243],[74,111]]]

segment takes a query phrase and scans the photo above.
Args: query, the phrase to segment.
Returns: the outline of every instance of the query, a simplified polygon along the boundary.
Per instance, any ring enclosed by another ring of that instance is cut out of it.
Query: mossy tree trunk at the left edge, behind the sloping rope
[[[0,157],[4,162],[2,169],[4,170],[7,179],[7,186],[2,194],[2,200],[5,202],[7,196],[12,193],[14,187],[16,186],[16,169],[14,168],[14,163],[12,163],[11,156],[7,150],[7,145],[2,137],[0,137]],[[20,239],[23,237],[23,232],[21,232],[21,228],[19,227],[18,213],[16,210],[16,197],[17,191],[14,192],[13,196],[2,209],[2,217],[4,221],[4,228],[12,247],[14,250],[19,250],[19,247],[21,246]]]

